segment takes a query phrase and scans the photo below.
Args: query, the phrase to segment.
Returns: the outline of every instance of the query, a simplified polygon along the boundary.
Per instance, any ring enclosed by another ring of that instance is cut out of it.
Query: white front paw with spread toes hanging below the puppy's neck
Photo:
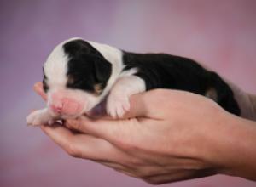
[[[107,113],[113,118],[124,116],[130,110],[129,98],[121,94],[110,94],[107,99]]]

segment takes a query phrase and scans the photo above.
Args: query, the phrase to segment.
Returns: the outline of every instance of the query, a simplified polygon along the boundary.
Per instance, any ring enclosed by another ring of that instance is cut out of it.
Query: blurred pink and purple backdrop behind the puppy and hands
[[[69,37],[196,59],[256,94],[254,0],[1,0],[0,24],[1,187],[151,186],[67,156],[38,127],[26,127],[29,111],[44,106],[32,85],[49,52]],[[217,175],[162,186],[255,185]]]

